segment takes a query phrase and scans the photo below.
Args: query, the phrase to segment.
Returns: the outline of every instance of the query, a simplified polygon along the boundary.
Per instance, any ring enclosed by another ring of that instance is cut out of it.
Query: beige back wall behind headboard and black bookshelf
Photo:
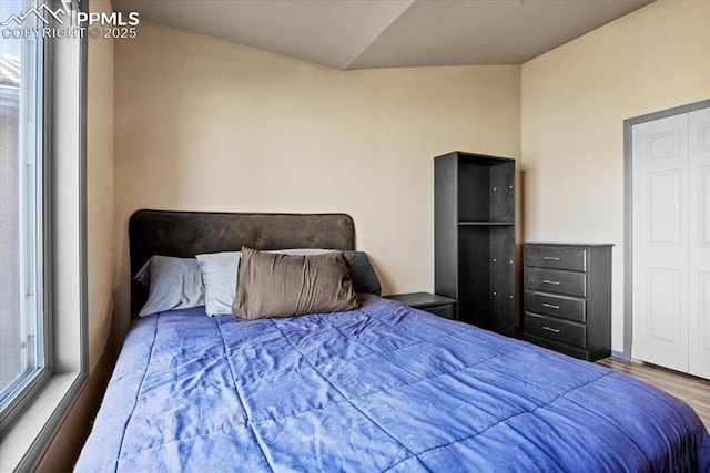
[[[433,157],[518,157],[516,65],[343,72],[142,21],[115,44],[116,318],[139,208],[345,212],[386,292],[434,286]]]

